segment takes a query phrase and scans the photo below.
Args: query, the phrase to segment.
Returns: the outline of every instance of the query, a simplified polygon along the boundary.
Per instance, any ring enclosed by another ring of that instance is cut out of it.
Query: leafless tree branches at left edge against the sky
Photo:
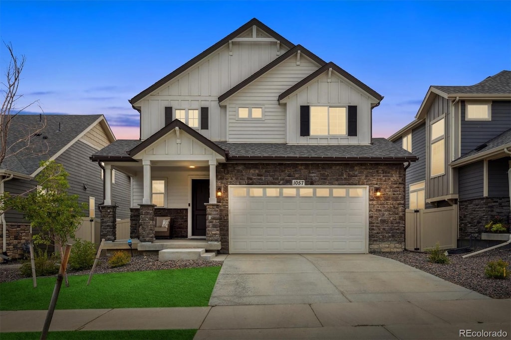
[[[20,108],[16,107],[16,102],[23,96],[17,92],[21,71],[25,66],[26,58],[24,55],[18,58],[13,52],[11,43],[7,44],[4,42],[4,45],[9,51],[10,61],[6,71],[6,82],[2,82],[3,100],[2,111],[0,112],[0,166],[7,157],[14,156],[22,150],[30,148],[33,144],[32,137],[37,135],[46,125],[46,120],[41,119],[39,124],[23,127],[16,126],[16,129],[22,129],[22,133],[16,134],[15,138],[9,138],[9,129],[11,128],[13,118],[16,115],[34,104],[37,104],[42,113],[44,112],[39,106],[37,100],[29,103],[28,105],[21,106]],[[38,152],[44,153],[44,149],[45,148],[39,149]],[[47,148],[46,151],[48,151]]]

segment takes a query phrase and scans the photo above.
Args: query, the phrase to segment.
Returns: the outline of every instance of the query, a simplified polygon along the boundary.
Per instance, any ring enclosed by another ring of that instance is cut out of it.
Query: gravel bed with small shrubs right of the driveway
[[[490,261],[502,259],[507,263],[511,263],[511,250],[494,249],[467,258],[461,257],[465,254],[449,255],[450,261],[448,264],[431,263],[428,261],[428,254],[410,251],[377,253],[377,255],[403,262],[491,298],[511,298],[511,279],[509,279],[509,276],[504,280],[489,279],[484,276],[484,268]],[[511,266],[508,266],[508,270],[511,271]]]

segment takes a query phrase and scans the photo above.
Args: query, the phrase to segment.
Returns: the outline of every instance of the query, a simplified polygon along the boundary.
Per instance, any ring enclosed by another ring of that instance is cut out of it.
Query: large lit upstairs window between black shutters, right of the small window
[[[345,135],[346,108],[311,106],[311,135]]]

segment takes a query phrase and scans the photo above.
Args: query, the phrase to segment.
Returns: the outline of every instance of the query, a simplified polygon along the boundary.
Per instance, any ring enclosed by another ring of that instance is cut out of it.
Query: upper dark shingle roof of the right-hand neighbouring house
[[[511,94],[511,71],[503,70],[498,74],[484,79],[471,86],[436,86],[434,87],[447,94]]]

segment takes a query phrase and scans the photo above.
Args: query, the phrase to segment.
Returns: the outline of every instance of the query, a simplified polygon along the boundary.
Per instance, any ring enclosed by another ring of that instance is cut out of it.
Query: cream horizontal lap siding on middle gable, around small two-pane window
[[[286,142],[286,105],[278,95],[317,70],[319,65],[296,54],[278,64],[259,79],[232,95],[227,102],[230,142]],[[239,107],[262,107],[263,119],[238,119]]]

